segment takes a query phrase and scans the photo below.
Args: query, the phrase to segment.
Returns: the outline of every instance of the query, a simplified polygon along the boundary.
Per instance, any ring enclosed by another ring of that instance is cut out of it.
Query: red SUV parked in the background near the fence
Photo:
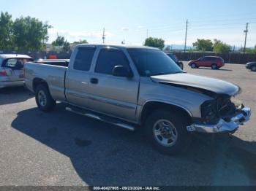
[[[211,67],[211,69],[219,69],[224,65],[224,60],[219,56],[203,56],[197,60],[189,61],[189,66],[192,69],[197,69],[200,66]]]

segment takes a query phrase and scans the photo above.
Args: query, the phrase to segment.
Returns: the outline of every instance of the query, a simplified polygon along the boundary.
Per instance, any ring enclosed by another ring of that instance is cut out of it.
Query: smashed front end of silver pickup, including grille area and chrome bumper
[[[249,120],[251,109],[237,103],[230,95],[216,95],[201,105],[201,118],[194,119],[188,131],[201,133],[234,133]]]

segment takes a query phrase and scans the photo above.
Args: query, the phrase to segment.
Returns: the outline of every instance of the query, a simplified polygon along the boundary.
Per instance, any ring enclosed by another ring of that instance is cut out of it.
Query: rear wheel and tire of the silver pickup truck
[[[37,106],[42,112],[51,112],[56,106],[56,101],[51,97],[46,85],[38,85],[36,87],[35,98]]]

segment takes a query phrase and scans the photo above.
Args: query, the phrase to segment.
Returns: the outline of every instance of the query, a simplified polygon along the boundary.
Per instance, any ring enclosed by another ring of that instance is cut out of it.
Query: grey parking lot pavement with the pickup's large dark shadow
[[[186,65],[186,63],[184,62]],[[185,71],[233,82],[252,119],[233,136],[196,137],[181,156],[155,152],[143,133],[64,110],[39,112],[23,87],[0,90],[0,185],[256,185],[256,73],[227,64]]]

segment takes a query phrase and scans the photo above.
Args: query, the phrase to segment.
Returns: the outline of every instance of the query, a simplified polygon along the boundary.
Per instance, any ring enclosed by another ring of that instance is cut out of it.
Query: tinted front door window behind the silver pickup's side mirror
[[[115,48],[102,49],[99,52],[95,72],[112,75],[115,66],[125,66],[129,69],[129,61],[124,52]]]

